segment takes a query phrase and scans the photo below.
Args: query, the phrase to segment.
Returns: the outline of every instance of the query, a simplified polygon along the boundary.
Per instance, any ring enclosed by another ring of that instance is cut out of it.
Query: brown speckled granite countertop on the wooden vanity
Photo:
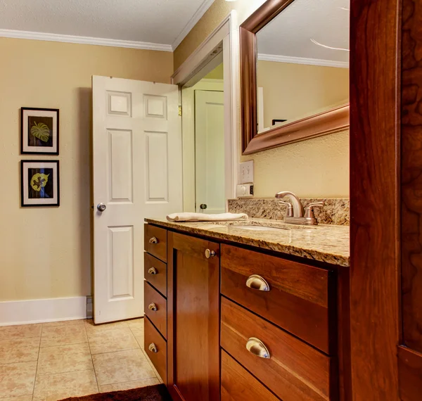
[[[349,227],[323,225],[300,226],[273,219],[248,219],[236,222],[168,222],[145,219],[161,227],[243,243],[332,265],[350,266]],[[240,226],[274,227],[255,231]]]

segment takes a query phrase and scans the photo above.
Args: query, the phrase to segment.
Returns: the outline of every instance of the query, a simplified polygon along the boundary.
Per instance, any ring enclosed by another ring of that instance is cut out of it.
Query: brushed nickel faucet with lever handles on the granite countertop
[[[290,191],[282,191],[276,193],[276,198],[283,199],[288,198],[290,202],[285,202],[280,200],[280,205],[284,205],[287,207],[286,217],[284,217],[284,222],[288,224],[305,224],[305,225],[316,225],[318,224],[318,220],[315,218],[314,215],[314,208],[318,208],[324,206],[324,202],[314,202],[309,203],[306,206],[305,210],[303,209],[302,202],[295,196],[293,192]]]

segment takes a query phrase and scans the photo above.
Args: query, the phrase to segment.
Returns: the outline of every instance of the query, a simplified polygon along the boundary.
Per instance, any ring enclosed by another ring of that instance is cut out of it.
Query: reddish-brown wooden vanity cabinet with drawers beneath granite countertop
[[[348,319],[338,291],[348,293],[332,266],[151,224],[146,235],[167,254],[146,236],[146,271],[157,274],[146,273],[145,348],[174,401],[350,401],[337,326],[341,313]]]

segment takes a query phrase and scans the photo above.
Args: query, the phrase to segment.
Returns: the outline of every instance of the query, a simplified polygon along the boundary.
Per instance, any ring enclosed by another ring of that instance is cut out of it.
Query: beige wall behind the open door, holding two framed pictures
[[[0,38],[0,300],[91,293],[91,75],[170,82],[172,53]],[[20,107],[60,109],[60,155],[19,154]],[[20,208],[22,159],[60,160],[60,207]]]

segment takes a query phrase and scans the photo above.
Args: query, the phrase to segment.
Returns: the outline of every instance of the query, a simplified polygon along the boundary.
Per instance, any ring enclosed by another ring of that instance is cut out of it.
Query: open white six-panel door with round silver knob
[[[182,210],[177,85],[92,79],[94,322],[143,316],[143,219]],[[103,204],[105,210],[98,210]]]

